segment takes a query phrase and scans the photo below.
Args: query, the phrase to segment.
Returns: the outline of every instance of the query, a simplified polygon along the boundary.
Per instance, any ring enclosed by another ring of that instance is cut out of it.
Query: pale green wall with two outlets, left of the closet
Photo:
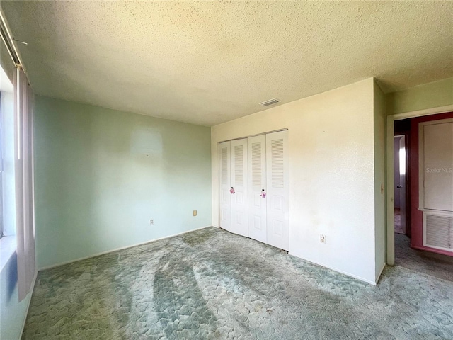
[[[211,225],[210,162],[210,128],[37,96],[38,268]]]

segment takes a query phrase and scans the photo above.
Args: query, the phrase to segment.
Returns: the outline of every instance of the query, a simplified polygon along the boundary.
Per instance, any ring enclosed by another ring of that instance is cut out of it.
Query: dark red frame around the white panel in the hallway
[[[418,210],[418,123],[453,118],[453,112],[425,115],[411,119],[411,247],[453,256],[452,251],[423,246],[423,212]]]

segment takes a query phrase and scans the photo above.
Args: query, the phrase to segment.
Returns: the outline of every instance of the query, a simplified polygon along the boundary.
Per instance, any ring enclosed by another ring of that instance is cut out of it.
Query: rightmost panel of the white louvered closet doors
[[[266,135],[268,244],[289,250],[288,134]]]

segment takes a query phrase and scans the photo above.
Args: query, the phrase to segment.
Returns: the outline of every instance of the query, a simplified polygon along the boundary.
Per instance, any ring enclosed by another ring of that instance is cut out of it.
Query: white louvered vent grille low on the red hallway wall
[[[423,212],[425,246],[453,251],[453,215]]]

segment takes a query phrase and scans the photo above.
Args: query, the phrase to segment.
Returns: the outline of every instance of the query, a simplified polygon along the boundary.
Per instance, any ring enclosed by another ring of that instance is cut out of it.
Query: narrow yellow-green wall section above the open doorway
[[[386,95],[387,115],[453,105],[453,78]]]

